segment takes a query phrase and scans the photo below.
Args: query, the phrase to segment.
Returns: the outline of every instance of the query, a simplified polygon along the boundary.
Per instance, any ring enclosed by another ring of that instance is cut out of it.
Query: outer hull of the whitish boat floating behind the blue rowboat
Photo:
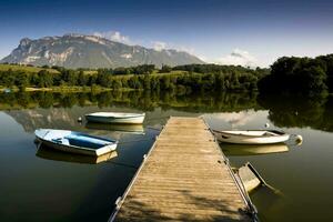
[[[119,123],[119,124],[142,124],[144,120],[144,114],[135,117],[99,117],[87,114],[87,121],[89,122],[100,122],[100,123]]]

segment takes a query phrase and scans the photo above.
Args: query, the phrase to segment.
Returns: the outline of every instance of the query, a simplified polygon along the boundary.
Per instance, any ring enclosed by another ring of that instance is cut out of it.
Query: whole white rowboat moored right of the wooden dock
[[[278,130],[218,131],[213,130],[220,142],[236,144],[271,144],[285,142],[290,134]]]

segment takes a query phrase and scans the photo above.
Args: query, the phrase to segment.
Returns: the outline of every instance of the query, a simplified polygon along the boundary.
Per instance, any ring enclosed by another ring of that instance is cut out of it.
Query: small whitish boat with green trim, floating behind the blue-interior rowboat
[[[103,123],[127,123],[141,124],[145,113],[125,113],[125,112],[94,112],[85,114],[85,119],[91,122]]]

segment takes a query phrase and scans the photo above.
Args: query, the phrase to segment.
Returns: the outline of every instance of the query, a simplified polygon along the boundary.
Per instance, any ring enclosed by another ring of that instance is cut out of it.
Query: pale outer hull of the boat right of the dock
[[[229,131],[230,132],[230,131]],[[273,143],[281,143],[289,140],[289,134],[275,134],[275,135],[254,135],[254,134],[245,134],[246,132],[251,131],[243,131],[242,133],[225,133],[223,131],[213,131],[215,138],[219,142],[225,143],[234,143],[234,144],[273,144]],[[253,132],[261,132],[261,131],[253,131]],[[262,132],[270,132],[270,131],[262,131]]]

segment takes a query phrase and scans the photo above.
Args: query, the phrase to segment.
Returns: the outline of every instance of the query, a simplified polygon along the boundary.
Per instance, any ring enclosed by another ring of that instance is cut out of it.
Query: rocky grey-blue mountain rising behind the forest
[[[117,68],[138,64],[161,67],[162,64],[204,63],[186,52],[172,49],[158,51],[84,34],[44,37],[37,40],[24,38],[20,41],[19,47],[0,62],[65,68]]]

